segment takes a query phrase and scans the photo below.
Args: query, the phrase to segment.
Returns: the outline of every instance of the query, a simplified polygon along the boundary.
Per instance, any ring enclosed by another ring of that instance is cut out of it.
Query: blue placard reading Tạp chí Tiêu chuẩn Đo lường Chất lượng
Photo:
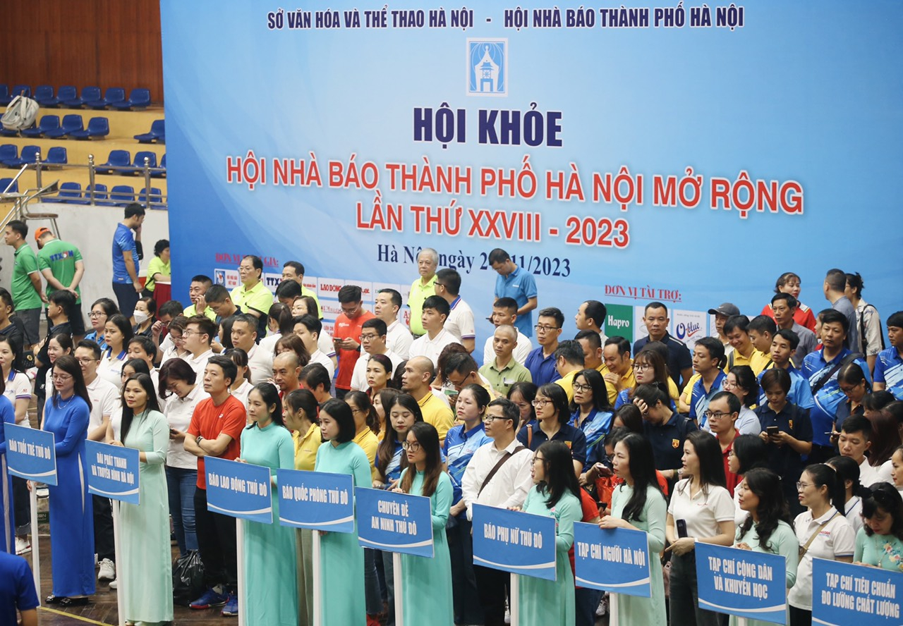
[[[812,623],[890,626],[903,623],[903,574],[812,559]]]

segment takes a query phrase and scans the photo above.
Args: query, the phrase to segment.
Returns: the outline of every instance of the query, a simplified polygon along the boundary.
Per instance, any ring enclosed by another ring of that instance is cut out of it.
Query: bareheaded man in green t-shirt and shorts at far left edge
[[[14,219],[4,229],[6,245],[13,246],[15,250],[11,285],[15,314],[25,324],[25,347],[34,350],[41,340],[41,305],[47,301],[47,296],[41,290],[38,257],[31,246],[25,243],[27,235],[28,226],[22,220]]]

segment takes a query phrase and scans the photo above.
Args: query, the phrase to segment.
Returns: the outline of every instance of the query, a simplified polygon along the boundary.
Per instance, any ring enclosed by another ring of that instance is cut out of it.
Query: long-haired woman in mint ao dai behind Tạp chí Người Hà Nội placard
[[[630,433],[615,444],[612,458],[615,474],[624,483],[611,494],[611,514],[599,522],[600,529],[643,530],[649,540],[651,596],[619,594],[617,624],[665,624],[665,585],[656,555],[665,549],[667,505],[656,477],[652,446],[646,437]]]

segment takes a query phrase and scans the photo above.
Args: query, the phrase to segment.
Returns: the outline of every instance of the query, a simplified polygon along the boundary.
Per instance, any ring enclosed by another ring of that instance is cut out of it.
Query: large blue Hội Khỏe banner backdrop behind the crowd
[[[405,293],[428,246],[481,342],[501,246],[563,336],[588,298],[704,335],[788,270],[818,311],[835,266],[901,308],[903,4],[547,5],[162,0],[173,296],[300,260],[329,328],[341,285]]]

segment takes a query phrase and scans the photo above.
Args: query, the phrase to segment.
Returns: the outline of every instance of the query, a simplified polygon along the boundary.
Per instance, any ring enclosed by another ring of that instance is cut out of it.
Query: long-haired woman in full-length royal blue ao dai
[[[53,395],[44,405],[43,423],[43,429],[55,437],[57,459],[57,484],[47,486],[53,592],[46,602],[79,606],[87,604],[95,590],[94,511],[85,455],[91,400],[79,362],[70,354],[53,364],[52,381]]]

